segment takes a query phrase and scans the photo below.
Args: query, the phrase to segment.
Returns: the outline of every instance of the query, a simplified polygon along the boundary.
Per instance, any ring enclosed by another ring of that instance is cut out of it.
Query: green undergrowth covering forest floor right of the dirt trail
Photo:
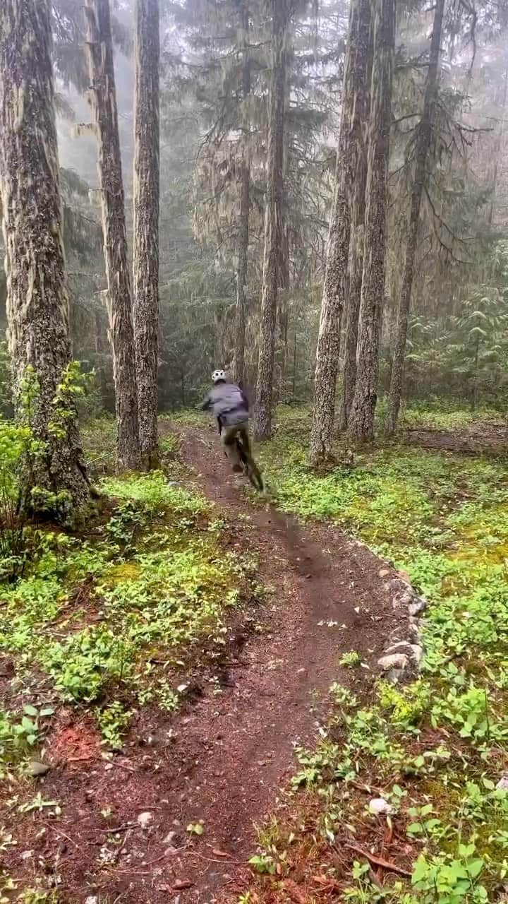
[[[413,416],[472,424],[463,412]],[[379,442],[353,461],[337,447],[347,463],[318,476],[306,463],[307,423],[306,412],[285,411],[261,447],[278,504],[340,524],[409,574],[428,598],[425,653],[417,681],[379,680],[371,705],[331,688],[320,745],[298,751],[296,815],[260,830],[251,865],[267,878],[241,900],[497,899],[508,882],[505,460]],[[340,664],[358,665],[350,655]],[[385,802],[381,813],[372,798]]]

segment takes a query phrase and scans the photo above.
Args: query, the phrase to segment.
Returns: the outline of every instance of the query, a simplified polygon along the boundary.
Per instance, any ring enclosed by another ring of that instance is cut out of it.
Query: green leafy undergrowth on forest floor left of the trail
[[[92,446],[101,428],[100,423],[89,428]],[[0,445],[9,432],[11,458],[15,429],[0,428]],[[107,435],[102,440],[107,447]],[[175,460],[175,439],[163,438],[161,446],[165,473],[100,478],[99,513],[86,532],[78,536],[24,523],[14,552],[7,519],[16,484],[4,462],[0,780],[8,792],[5,824],[18,811],[29,812],[24,808],[36,799],[30,775],[54,765],[62,712],[91,726],[103,758],[124,749],[142,707],[171,713],[192,695],[193,667],[207,651],[220,657],[230,630],[228,609],[251,586],[255,561],[224,547],[226,525],[212,504],[189,488]],[[97,465],[98,473],[103,467],[105,462]],[[0,833],[4,843],[15,844],[6,829]]]

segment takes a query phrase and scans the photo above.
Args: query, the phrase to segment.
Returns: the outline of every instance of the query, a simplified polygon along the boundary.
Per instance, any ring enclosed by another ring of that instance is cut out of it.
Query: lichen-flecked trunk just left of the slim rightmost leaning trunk
[[[356,353],[356,385],[348,424],[348,436],[356,441],[371,439],[374,434],[384,300],[391,93],[395,55],[395,0],[376,0],[373,8],[374,58],[365,192],[362,301]]]

